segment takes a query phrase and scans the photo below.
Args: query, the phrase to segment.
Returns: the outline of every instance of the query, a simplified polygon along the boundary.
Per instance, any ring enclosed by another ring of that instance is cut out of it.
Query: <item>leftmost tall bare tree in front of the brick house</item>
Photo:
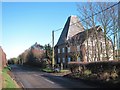
[[[93,3],[88,3],[87,5],[83,6],[82,8],[79,5],[77,5],[77,6],[78,6],[78,11],[80,13],[79,17],[82,20],[82,23],[87,30],[87,60],[89,60],[89,54],[90,54],[89,53],[89,45],[88,45],[88,43],[89,43],[89,41],[88,41],[88,28],[91,28],[91,27],[94,29],[95,35],[91,35],[90,37],[96,39],[96,44],[97,44],[96,46],[97,46],[97,51],[98,51],[97,60],[100,60],[100,45],[99,45],[99,40],[98,40],[97,29],[95,28],[97,25],[97,21],[96,21],[97,17],[94,16],[94,13],[95,13],[97,7]],[[92,51],[92,54],[91,54],[92,58],[91,59],[92,59],[92,61],[94,61],[94,56],[96,56],[96,53],[94,53],[94,46],[95,45],[93,43],[94,43],[93,39],[91,39],[91,47],[92,47],[92,50],[91,50]]]

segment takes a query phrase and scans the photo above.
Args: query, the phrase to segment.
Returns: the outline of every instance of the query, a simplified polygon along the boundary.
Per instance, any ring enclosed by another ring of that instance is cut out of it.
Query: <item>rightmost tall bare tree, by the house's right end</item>
[[[105,49],[106,49],[106,58],[109,60],[109,43],[107,41],[108,36],[111,32],[116,31],[116,20],[115,20],[115,9],[109,8],[108,7],[112,6],[114,3],[110,2],[102,2],[98,3],[98,8],[99,11],[102,11],[100,14],[98,14],[98,21],[101,24],[103,31],[104,31],[104,40],[105,40]],[[106,9],[106,10],[105,10]],[[105,10],[105,11],[103,11]],[[115,52],[115,35],[114,35],[114,40],[113,40],[113,57],[114,52]]]

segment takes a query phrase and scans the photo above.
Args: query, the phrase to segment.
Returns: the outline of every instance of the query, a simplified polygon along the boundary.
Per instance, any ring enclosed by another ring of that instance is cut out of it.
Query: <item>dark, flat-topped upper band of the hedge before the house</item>
[[[120,61],[99,61],[99,62],[70,62],[68,64],[71,72],[77,72],[79,70],[88,69],[91,70],[92,73],[99,72],[111,72],[117,71],[120,72]]]

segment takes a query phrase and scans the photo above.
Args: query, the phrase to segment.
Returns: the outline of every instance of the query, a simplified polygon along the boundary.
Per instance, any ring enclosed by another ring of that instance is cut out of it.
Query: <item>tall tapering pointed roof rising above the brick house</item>
[[[63,28],[63,31],[56,45],[58,46],[64,44],[66,40],[70,39],[71,37],[82,31],[84,31],[84,28],[80,23],[78,17],[77,16],[68,17],[67,22]]]

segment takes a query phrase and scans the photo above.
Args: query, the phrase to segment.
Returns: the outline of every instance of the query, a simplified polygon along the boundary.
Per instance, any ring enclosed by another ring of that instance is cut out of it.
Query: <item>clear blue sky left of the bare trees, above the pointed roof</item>
[[[7,58],[17,57],[35,42],[50,43],[52,30],[64,27],[67,18],[77,14],[74,2],[3,2],[2,47]],[[61,31],[55,32],[55,44]]]

